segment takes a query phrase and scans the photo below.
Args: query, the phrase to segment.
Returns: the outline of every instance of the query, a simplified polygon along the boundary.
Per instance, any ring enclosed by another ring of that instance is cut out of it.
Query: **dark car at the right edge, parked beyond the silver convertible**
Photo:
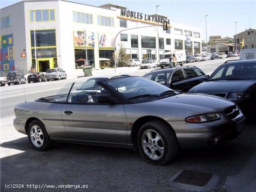
[[[205,93],[234,101],[244,113],[256,112],[256,60],[228,60],[189,93]]]

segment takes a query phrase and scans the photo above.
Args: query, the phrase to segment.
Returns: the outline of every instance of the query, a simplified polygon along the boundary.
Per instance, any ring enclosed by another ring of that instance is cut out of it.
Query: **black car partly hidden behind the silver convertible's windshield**
[[[167,69],[156,69],[142,77],[158,82],[171,89],[188,92],[190,88],[204,82],[206,75],[196,66],[179,66]]]

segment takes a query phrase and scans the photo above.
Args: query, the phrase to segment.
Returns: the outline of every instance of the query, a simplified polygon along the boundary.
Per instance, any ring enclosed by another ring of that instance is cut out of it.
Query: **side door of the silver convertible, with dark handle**
[[[67,138],[88,144],[120,145],[127,143],[127,123],[121,104],[67,103],[62,120]]]

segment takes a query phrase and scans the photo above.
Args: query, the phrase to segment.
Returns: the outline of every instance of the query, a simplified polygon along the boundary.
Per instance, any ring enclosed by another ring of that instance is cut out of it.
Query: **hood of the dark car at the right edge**
[[[189,93],[230,93],[243,92],[256,80],[218,80],[206,81],[197,86],[192,87]]]

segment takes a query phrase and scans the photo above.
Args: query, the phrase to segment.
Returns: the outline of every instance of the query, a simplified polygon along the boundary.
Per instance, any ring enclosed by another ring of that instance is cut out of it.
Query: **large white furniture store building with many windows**
[[[166,51],[202,52],[200,28],[113,4],[24,0],[0,12],[1,72],[26,74],[34,63],[41,72],[58,64],[68,73],[84,65],[84,60],[100,68],[113,63],[121,45],[128,58],[140,60],[159,60]],[[164,21],[167,31],[162,28]]]

